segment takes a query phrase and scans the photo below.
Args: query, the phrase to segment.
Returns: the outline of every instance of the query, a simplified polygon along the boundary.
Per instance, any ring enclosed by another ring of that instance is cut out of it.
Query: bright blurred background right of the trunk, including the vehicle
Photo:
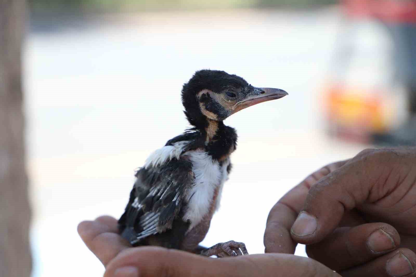
[[[198,69],[289,92],[225,121],[238,131],[238,149],[203,245],[236,240],[261,253],[270,208],[309,173],[369,146],[415,144],[415,1],[30,0],[27,7],[32,277],[104,272],[77,224],[121,215],[134,170],[188,127],[180,91]],[[230,228],[236,222],[238,231]],[[296,254],[305,255],[302,245]]]

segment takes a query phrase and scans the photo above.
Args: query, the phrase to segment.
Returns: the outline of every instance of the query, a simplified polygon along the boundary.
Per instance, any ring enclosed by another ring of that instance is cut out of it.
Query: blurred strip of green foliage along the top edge
[[[337,3],[339,0],[29,0],[34,11],[77,10],[85,12],[197,10],[224,8],[311,7]]]

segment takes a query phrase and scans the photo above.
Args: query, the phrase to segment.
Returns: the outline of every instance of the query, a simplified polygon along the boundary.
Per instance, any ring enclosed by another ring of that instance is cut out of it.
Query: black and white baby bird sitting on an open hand
[[[287,95],[282,89],[259,88],[218,70],[197,71],[183,85],[182,103],[193,126],[152,153],[136,172],[119,230],[131,245],[157,245],[207,257],[247,255],[242,242],[199,246],[221,190],[231,171],[237,146],[228,116],[255,104]]]

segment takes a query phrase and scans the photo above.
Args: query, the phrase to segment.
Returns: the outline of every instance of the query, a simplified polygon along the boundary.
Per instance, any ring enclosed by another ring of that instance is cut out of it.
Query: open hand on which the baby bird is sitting
[[[339,277],[315,260],[288,254],[213,259],[162,247],[131,247],[109,216],[80,223],[78,233],[106,268],[104,277]]]

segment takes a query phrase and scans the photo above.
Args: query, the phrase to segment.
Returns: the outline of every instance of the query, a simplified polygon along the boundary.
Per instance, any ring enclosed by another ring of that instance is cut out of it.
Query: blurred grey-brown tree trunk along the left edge
[[[21,48],[25,1],[0,0],[0,276],[29,277]]]

